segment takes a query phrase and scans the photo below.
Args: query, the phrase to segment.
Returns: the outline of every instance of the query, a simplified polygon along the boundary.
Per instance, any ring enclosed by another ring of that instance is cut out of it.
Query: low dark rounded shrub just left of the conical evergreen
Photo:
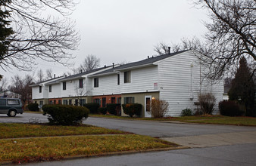
[[[221,101],[219,103],[220,115],[239,116],[242,112],[239,110],[239,105],[235,101]]]

